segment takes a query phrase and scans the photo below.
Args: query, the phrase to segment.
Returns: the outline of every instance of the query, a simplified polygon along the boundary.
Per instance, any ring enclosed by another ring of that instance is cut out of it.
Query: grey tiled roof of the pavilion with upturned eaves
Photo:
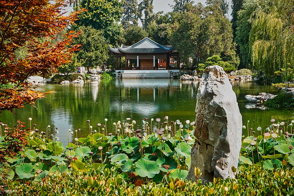
[[[144,46],[144,43],[147,43],[151,45],[152,47],[142,47]],[[172,51],[175,51],[175,48],[173,46],[162,46],[159,43],[156,43],[155,41],[144,38],[138,43],[135,43],[132,46],[117,46],[117,48],[112,48],[109,46],[109,49],[111,52],[116,54],[146,54],[146,53],[169,53]]]

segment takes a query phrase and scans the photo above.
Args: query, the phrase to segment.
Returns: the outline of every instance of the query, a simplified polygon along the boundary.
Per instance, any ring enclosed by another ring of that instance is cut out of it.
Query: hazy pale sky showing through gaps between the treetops
[[[140,1],[140,0],[139,0]],[[201,2],[205,3],[206,0],[194,0],[195,4]],[[229,2],[229,18],[231,18],[231,1],[227,0]],[[171,7],[168,4],[174,4],[173,0],[153,0],[153,6],[154,6],[154,12],[157,13],[159,11],[169,12],[172,11]],[[71,11],[72,7],[67,7],[67,11]]]

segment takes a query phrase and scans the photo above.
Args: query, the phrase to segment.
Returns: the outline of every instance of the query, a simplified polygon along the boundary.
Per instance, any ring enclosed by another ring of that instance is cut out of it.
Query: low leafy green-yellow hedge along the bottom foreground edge
[[[293,195],[293,178],[293,168],[289,169],[286,166],[274,171],[262,170],[261,167],[242,166],[238,168],[236,179],[217,178],[205,185],[201,180],[181,181],[166,177],[158,185],[144,180],[142,186],[136,186],[130,183],[127,173],[119,173],[114,167],[78,174],[55,172],[40,179],[42,183],[9,182],[11,191],[7,195]]]

